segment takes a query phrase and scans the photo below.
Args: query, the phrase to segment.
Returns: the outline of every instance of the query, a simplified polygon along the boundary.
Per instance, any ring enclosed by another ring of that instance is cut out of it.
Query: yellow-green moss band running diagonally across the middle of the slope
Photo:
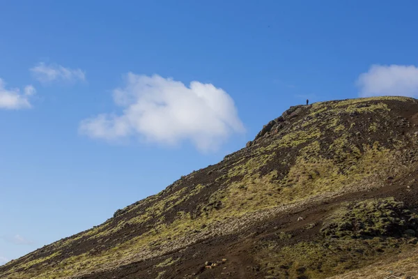
[[[155,227],[145,234],[121,243],[121,245],[99,255],[86,253],[64,259],[51,271],[44,269],[38,276],[34,273],[31,277],[48,278],[47,276],[52,276],[52,274],[67,276],[80,271],[109,267],[112,263],[116,264],[131,259],[140,252],[152,250],[157,246],[167,246],[171,241],[190,235],[196,228],[213,223],[215,220],[241,216],[268,207],[302,201],[313,195],[322,195],[326,191],[338,190],[353,181],[364,179],[367,175],[366,171],[372,171],[373,167],[385,165],[385,162],[390,158],[389,151],[382,149],[378,143],[371,147],[364,146],[362,156],[356,161],[355,168],[347,170],[347,166],[336,165],[333,160],[318,156],[321,150],[323,149],[318,141],[313,141],[301,149],[296,164],[291,167],[283,180],[277,180],[277,171],[272,171],[265,176],[253,171],[260,167],[253,161],[246,166],[247,171],[242,172],[244,176],[240,181],[229,183],[224,190],[218,190],[212,194],[209,201],[212,210],[208,211],[207,215],[191,218],[190,213],[180,212],[173,223],[164,224],[164,218],[162,218],[160,211],[170,209],[178,202],[187,201],[190,195],[196,195],[205,186],[195,186],[189,195],[185,190],[179,190],[173,196],[155,204],[155,209],[160,210],[158,211],[160,214],[158,220],[161,223],[155,224]],[[263,162],[261,160],[261,163]],[[342,174],[341,169],[346,174]],[[150,210],[146,211],[140,218],[144,218],[149,213],[151,213]]]

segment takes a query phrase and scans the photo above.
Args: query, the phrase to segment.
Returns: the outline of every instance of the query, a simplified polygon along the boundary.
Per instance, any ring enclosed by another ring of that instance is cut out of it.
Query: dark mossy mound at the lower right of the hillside
[[[327,278],[410,250],[417,228],[417,214],[393,197],[348,202],[325,218],[323,238],[286,246],[281,233],[260,241],[256,258],[271,276]]]

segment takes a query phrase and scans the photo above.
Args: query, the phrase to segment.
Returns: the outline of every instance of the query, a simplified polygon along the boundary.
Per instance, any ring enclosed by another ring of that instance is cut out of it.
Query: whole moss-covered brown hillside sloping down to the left
[[[417,278],[417,211],[418,100],[300,105],[0,278]]]

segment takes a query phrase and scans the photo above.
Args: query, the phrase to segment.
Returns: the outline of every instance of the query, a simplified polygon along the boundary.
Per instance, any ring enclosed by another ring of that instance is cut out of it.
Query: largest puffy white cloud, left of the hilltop
[[[194,81],[187,87],[159,75],[128,73],[125,86],[114,90],[114,102],[122,114],[85,119],[80,133],[110,141],[139,135],[167,145],[189,140],[209,151],[245,130],[231,96],[212,84]]]

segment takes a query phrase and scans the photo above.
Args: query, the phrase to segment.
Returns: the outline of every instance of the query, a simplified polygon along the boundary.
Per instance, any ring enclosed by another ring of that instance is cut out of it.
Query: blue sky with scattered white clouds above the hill
[[[0,264],[217,163],[306,98],[418,96],[415,1],[0,5]]]

